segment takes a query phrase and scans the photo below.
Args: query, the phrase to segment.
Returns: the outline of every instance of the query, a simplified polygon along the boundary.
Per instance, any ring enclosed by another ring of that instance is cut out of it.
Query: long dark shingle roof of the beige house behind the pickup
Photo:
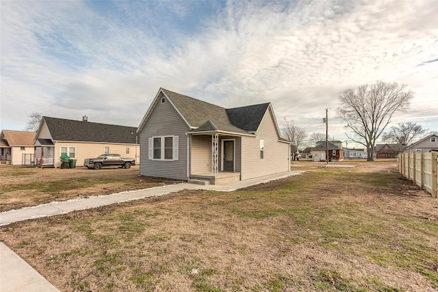
[[[42,117],[53,141],[135,144],[137,127]]]

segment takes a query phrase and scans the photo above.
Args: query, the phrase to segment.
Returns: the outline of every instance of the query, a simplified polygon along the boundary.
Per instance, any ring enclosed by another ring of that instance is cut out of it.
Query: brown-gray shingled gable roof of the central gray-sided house
[[[270,103],[225,109],[205,101],[188,97],[187,95],[181,95],[164,88],[159,88],[153,104],[148,112],[146,112],[138,127],[139,132],[146,124],[153,108],[162,95],[167,97],[175,110],[179,112],[185,123],[190,127],[190,132],[222,131],[235,134],[254,134],[257,132],[268,109],[272,110]],[[276,121],[274,121],[274,124],[279,140],[286,141],[281,138]]]

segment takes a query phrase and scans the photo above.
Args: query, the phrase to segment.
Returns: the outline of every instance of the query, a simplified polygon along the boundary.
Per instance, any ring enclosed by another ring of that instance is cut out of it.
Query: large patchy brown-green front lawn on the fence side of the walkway
[[[62,291],[435,291],[438,200],[378,165],[182,191],[0,236]]]

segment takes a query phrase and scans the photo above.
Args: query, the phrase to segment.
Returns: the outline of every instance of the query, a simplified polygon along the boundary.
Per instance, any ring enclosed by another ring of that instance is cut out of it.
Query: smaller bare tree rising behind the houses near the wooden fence
[[[388,132],[382,134],[382,140],[409,145],[425,132],[426,130],[416,123],[398,123],[398,126],[393,125]]]

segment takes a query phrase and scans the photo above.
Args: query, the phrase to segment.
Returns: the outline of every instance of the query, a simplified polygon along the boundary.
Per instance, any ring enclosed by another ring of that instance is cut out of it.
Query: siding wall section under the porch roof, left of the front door
[[[190,173],[211,172],[211,136],[192,136]]]

